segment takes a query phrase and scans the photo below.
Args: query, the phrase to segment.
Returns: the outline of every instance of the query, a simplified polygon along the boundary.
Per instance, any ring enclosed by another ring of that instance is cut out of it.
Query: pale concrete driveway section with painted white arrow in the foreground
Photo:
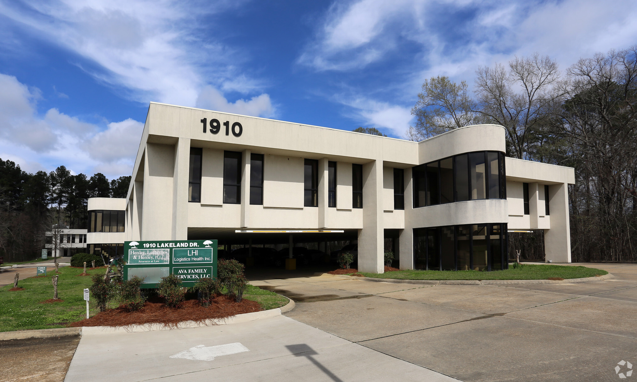
[[[65,382],[445,381],[285,316],[152,332],[84,328]]]

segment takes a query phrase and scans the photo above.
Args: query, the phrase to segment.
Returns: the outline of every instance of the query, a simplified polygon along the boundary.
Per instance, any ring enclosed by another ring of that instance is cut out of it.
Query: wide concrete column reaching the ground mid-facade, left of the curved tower
[[[383,273],[383,161],[362,166],[362,229],[358,236],[358,269]]]

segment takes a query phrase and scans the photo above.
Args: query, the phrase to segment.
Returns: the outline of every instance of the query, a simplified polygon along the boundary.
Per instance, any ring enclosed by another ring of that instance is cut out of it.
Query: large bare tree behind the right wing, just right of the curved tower
[[[476,112],[505,127],[510,155],[529,159],[529,136],[554,115],[562,95],[560,73],[557,62],[538,53],[515,57],[508,66],[478,67]]]

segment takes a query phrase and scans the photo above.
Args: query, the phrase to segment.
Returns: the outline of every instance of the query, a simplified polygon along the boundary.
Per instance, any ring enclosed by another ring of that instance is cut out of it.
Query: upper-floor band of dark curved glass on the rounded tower
[[[473,152],[413,167],[413,208],[506,199],[504,162],[501,152]]]

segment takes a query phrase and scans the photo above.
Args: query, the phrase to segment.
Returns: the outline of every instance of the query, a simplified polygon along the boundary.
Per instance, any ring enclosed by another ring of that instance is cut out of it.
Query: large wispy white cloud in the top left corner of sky
[[[215,42],[217,36],[200,36],[199,23],[210,20],[204,16],[234,9],[241,3],[59,0],[28,5],[4,3],[0,4],[0,14],[40,38],[95,62],[101,69],[81,67],[116,90],[123,88],[118,91],[124,97],[141,103],[195,106],[207,85],[224,91],[259,92],[258,81],[241,73],[245,59],[239,53]],[[0,29],[10,27],[5,23]]]

